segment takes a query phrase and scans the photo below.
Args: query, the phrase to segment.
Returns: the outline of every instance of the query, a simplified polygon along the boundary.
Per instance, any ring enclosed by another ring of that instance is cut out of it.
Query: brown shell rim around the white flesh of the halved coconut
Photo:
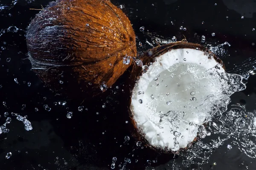
[[[166,52],[169,52],[171,50],[180,49],[180,48],[191,48],[191,49],[198,49],[200,51],[204,51],[205,54],[209,54],[209,57],[212,57],[213,59],[215,59],[216,62],[220,63],[222,65],[222,67],[224,68],[224,64],[221,61],[221,59],[216,57],[215,54],[213,54],[207,48],[205,48],[199,44],[189,43],[189,42],[174,42],[174,43],[170,43],[167,45],[158,46],[156,48],[150,49],[147,52],[145,52],[145,54],[140,59],[143,61],[143,65],[149,66],[150,63],[154,62],[157,57],[160,57],[161,55],[163,55]],[[160,148],[154,147],[148,143],[148,141],[145,139],[145,134],[143,133],[143,131],[137,127],[136,120],[134,119],[133,113],[131,112],[131,109],[130,109],[131,96],[132,96],[134,86],[135,86],[136,82],[140,79],[140,76],[145,72],[145,70],[143,70],[141,67],[138,67],[136,65],[131,65],[131,68],[129,70],[131,73],[130,73],[130,77],[127,81],[127,85],[130,90],[129,99],[127,101],[127,106],[128,106],[127,110],[128,110],[128,113],[130,114],[131,123],[134,126],[134,130],[132,132],[133,136],[135,138],[137,138],[138,141],[143,142],[147,147],[155,150],[156,152],[160,152],[160,153],[179,153],[181,150],[186,150],[188,147],[192,146],[192,144],[198,140],[197,137],[186,148],[182,148],[176,152],[173,152],[172,150],[169,150],[167,148],[160,149]]]

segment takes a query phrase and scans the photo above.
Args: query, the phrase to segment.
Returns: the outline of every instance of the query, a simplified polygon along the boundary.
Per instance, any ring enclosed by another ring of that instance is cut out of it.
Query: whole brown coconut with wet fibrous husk
[[[111,87],[136,57],[129,19],[109,0],[57,0],[26,33],[32,70],[52,91],[90,97]],[[84,95],[82,95],[84,96]]]

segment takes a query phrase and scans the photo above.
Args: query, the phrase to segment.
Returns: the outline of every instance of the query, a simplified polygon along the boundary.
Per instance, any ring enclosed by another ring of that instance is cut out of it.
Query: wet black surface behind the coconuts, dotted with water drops
[[[10,2],[1,0],[0,4],[5,5],[0,6],[9,6]],[[137,147],[137,139],[131,136],[133,127],[129,115],[124,112],[123,103],[127,98],[122,90],[127,88],[122,84],[125,76],[116,82],[118,89],[114,85],[102,96],[96,99],[85,96],[89,100],[84,101],[60,98],[44,88],[44,84],[31,71],[24,35],[31,18],[38,13],[38,10],[29,8],[40,9],[48,2],[18,0],[12,8],[0,9],[0,29],[5,31],[0,34],[0,125],[5,123],[5,112],[9,112],[12,118],[12,122],[6,125],[9,133],[0,134],[0,170],[107,170],[111,169],[113,157],[117,158],[115,169],[256,169],[255,155],[246,154],[236,145],[227,149],[227,144],[232,143],[233,139],[228,139],[210,152],[209,160],[203,165],[191,164],[189,167],[182,164],[186,158],[184,154],[165,155],[145,146]],[[255,0],[111,2],[116,6],[124,5],[122,10],[133,24],[137,41],[143,44],[138,48],[139,53],[151,48],[146,41],[156,46],[151,37],[158,35],[163,36],[163,40],[170,40],[173,36],[182,40],[184,35],[189,42],[200,42],[204,35],[206,42],[211,45],[229,42],[231,46],[227,48],[227,53],[220,55],[227,71],[244,76],[250,72],[247,89],[231,96],[230,108],[231,105],[241,105],[248,112],[255,110],[256,77],[252,75],[256,66],[256,31],[252,31],[256,28]],[[16,26],[19,30],[7,31],[10,26]],[[145,27],[144,32],[140,31],[141,26]],[[180,30],[180,26],[187,30]],[[213,32],[215,37],[211,36]],[[7,62],[8,58],[11,61]],[[14,81],[15,78],[18,83]],[[31,86],[28,86],[28,82],[31,82]],[[66,101],[67,104],[54,104],[59,101]],[[6,106],[3,102],[6,102]],[[25,108],[22,106],[24,104]],[[44,105],[48,105],[51,111],[46,111]],[[79,106],[84,106],[83,111],[78,111]],[[68,111],[73,112],[71,119],[67,119]],[[27,115],[33,130],[26,131],[23,123],[11,116],[11,112]],[[125,136],[129,136],[130,140],[125,142]],[[201,141],[209,143],[218,136],[212,134]],[[251,140],[255,141],[256,136],[252,136]],[[6,159],[9,152],[12,156]],[[125,158],[130,159],[131,163]]]

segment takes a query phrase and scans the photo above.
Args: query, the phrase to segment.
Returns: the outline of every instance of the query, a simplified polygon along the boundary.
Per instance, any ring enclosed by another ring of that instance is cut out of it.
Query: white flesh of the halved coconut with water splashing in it
[[[203,124],[227,109],[231,94],[244,89],[241,77],[225,73],[208,57],[196,49],[174,49],[157,57],[136,82],[130,109],[152,146],[177,151],[198,134],[204,138]]]

